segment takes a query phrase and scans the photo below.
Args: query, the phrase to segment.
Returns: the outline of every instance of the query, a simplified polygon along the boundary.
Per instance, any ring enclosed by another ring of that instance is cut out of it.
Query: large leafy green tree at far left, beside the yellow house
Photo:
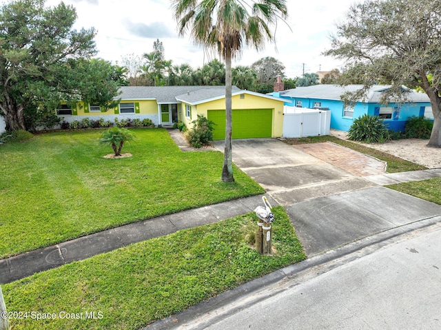
[[[91,91],[88,79],[99,76],[91,70],[102,68],[88,61],[96,54],[94,29],[73,30],[72,6],[45,8],[44,3],[13,0],[0,8],[0,111],[7,130],[24,130],[25,109],[36,103],[54,110],[59,99],[83,99]],[[112,100],[112,90],[94,101]]]

